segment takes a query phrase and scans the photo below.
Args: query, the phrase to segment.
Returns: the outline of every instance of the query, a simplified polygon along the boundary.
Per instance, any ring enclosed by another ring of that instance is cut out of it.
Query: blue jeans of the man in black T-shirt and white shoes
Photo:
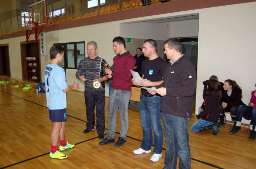
[[[151,150],[153,142],[152,124],[154,131],[154,153],[161,154],[163,148],[163,128],[161,124],[162,112],[160,111],[161,96],[145,97],[140,95],[140,122],[142,125],[143,139],[140,148]]]

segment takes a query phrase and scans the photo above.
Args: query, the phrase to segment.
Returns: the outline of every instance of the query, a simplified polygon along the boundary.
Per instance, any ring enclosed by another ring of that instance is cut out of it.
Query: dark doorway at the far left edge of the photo
[[[0,65],[0,75],[11,76],[8,45],[0,46]]]

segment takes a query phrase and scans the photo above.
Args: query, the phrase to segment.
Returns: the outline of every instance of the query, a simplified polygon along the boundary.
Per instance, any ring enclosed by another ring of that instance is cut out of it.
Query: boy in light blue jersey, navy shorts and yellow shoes
[[[58,63],[61,63],[63,60],[63,55],[64,48],[62,46],[52,46],[50,49],[51,63],[45,69],[47,107],[49,108],[50,120],[53,122],[50,158],[57,159],[68,158],[67,155],[58,151],[58,139],[60,142],[60,151],[72,149],[75,146],[66,142],[65,139],[65,127],[67,124],[66,93],[73,88],[76,89],[79,87],[79,84],[75,82],[71,86],[67,86],[65,71],[58,66]]]

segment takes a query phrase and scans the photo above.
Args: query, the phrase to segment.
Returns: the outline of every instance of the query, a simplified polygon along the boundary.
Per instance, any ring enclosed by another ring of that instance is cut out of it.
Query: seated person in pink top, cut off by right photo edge
[[[255,84],[256,87],[256,84]],[[234,134],[240,130],[241,121],[244,113],[251,116],[250,122],[250,137],[249,140],[254,141],[256,137],[256,90],[251,92],[251,99],[249,105],[239,106],[238,113],[236,116],[236,126],[229,132],[229,134]]]

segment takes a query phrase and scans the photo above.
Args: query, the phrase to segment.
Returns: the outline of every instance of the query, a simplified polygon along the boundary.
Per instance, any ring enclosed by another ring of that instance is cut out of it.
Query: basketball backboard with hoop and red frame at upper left
[[[37,39],[42,32],[43,27],[48,24],[46,11],[46,0],[39,1],[29,6],[29,20],[25,21],[27,43],[37,42]],[[35,39],[29,40],[33,30],[35,34]]]

